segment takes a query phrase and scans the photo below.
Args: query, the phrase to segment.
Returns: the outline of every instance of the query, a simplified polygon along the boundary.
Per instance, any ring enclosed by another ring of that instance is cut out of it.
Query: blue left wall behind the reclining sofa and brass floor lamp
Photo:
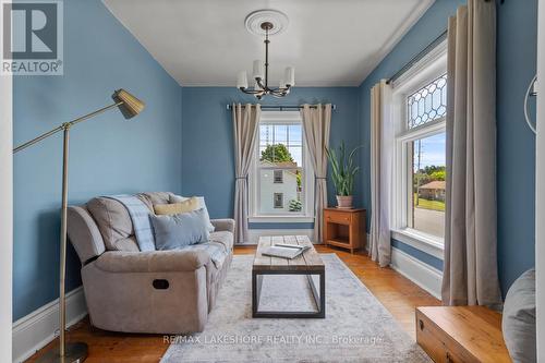
[[[64,75],[14,77],[14,144],[110,104],[126,88],[146,101],[130,121],[109,111],[71,132],[70,202],[181,190],[181,87],[96,0],[64,1]],[[14,156],[13,317],[58,297],[62,137]],[[80,263],[69,250],[69,290]]]

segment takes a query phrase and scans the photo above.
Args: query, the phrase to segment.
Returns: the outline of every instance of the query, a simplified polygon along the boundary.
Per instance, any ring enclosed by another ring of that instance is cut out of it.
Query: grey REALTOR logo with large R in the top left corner
[[[62,75],[62,1],[2,1],[0,74]]]

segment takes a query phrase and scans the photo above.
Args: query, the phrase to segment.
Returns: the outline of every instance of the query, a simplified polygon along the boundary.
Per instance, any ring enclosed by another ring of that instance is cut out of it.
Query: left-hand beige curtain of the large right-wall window
[[[390,195],[393,157],[391,87],[380,81],[371,89],[371,245],[370,256],[390,264]]]

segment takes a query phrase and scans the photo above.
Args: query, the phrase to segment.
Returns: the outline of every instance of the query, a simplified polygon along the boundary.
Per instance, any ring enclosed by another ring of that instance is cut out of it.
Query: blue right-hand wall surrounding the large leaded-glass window
[[[395,49],[360,86],[362,167],[370,168],[371,87],[388,78],[447,27],[448,16],[464,0],[437,0]],[[497,29],[497,182],[498,266],[504,294],[512,281],[534,265],[535,138],[523,118],[525,87],[536,72],[537,1],[498,3]],[[371,209],[370,180],[363,180],[363,205]],[[414,257],[441,267],[433,256],[407,244],[393,245]]]

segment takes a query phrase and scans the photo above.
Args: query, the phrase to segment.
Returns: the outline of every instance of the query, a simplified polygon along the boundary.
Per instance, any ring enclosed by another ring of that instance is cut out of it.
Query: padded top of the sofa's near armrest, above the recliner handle
[[[94,264],[108,273],[193,271],[210,262],[204,251],[171,250],[152,252],[109,251]]]

